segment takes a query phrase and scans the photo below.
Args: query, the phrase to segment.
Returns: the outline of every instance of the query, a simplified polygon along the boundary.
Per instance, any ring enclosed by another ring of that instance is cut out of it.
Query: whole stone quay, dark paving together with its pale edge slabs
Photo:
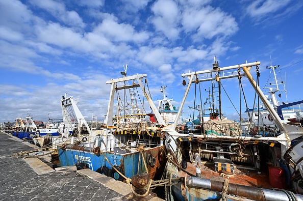
[[[0,146],[0,200],[135,200],[128,184],[90,169],[54,170],[38,158],[12,156],[37,148],[17,137],[0,132]],[[150,197],[140,200],[162,200]]]

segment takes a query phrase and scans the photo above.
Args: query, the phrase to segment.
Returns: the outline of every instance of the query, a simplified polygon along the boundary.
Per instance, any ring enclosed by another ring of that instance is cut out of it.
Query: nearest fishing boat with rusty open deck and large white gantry
[[[282,122],[249,72],[255,66],[260,75],[259,65],[246,62],[219,67],[215,60],[212,69],[182,74],[189,77],[189,82],[180,110],[193,83],[215,82],[219,93],[220,88],[224,89],[221,80],[236,77],[243,99],[242,79],[246,77],[273,117],[279,135],[244,134],[238,122],[220,118],[202,122],[199,133],[177,132],[176,124],[162,128],[167,133],[165,145],[169,152],[167,178],[182,178],[170,191],[178,200],[303,200],[299,171],[303,142],[291,144],[303,135],[303,128]],[[220,93],[218,96],[221,98]],[[241,119],[241,109],[238,113]]]

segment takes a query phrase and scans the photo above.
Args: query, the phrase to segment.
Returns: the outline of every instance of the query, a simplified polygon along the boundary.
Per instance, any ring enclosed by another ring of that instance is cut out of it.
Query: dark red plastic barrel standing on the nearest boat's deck
[[[274,188],[286,189],[284,169],[276,166],[268,166],[269,184]]]

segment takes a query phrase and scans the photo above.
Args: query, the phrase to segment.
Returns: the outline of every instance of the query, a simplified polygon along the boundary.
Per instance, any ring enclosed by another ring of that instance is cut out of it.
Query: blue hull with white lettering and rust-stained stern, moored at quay
[[[84,162],[88,168],[90,168],[93,171],[96,171],[98,168],[102,166],[106,166],[109,169],[111,169],[112,168],[111,164],[112,164],[114,166],[121,167],[124,176],[127,178],[132,178],[133,176],[138,174],[138,165],[139,165],[139,173],[146,172],[143,160],[146,160],[145,157],[147,154],[152,154],[156,158],[156,165],[154,167],[151,167],[150,165],[147,164],[150,179],[154,179],[157,175],[161,175],[166,164],[164,146],[144,150],[143,155],[145,157],[143,159],[142,156],[140,157],[140,164],[139,164],[139,152],[125,153],[125,154],[119,154],[113,152],[104,153],[107,159],[110,161],[111,163],[110,164],[105,159],[103,154],[95,155],[92,152],[92,148],[84,148],[84,150],[88,150],[88,151],[80,151],[79,146],[71,146],[71,149],[67,148],[65,150],[59,148],[60,146],[58,146],[58,156],[61,166],[70,166]]]

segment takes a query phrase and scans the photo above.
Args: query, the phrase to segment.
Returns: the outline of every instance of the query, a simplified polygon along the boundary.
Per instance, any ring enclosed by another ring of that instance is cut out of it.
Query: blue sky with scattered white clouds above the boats
[[[92,113],[102,120],[106,81],[121,77],[126,64],[128,75],[147,74],[155,102],[167,85],[166,95],[178,107],[186,89],[181,75],[212,68],[214,56],[220,67],[260,61],[262,88],[272,79],[266,66],[280,65],[276,73],[286,83],[288,102],[303,100],[302,33],[300,0],[3,0],[0,122],[29,114],[45,121],[49,113],[62,119],[62,96],[79,96],[86,120]],[[238,80],[223,84],[239,103]],[[183,108],[187,117],[194,89]],[[255,92],[245,94],[252,106]],[[223,111],[233,118],[231,105],[223,99]]]

